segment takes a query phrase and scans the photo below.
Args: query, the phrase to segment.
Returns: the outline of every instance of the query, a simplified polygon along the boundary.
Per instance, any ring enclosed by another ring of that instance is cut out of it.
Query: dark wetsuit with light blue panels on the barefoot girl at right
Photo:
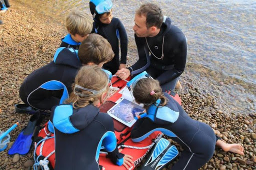
[[[152,132],[161,131],[184,149],[171,170],[198,170],[212,157],[218,139],[210,126],[191,119],[172,97],[167,93],[164,96],[169,100],[167,104],[151,105],[147,116],[135,123],[131,139],[140,142]]]

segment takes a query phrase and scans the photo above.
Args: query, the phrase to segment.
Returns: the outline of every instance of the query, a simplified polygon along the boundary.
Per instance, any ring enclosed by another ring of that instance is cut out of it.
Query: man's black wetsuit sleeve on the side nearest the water
[[[174,49],[174,63],[172,68],[169,70],[167,69],[162,74],[160,74],[156,79],[159,81],[160,84],[165,84],[178,76],[182,74],[182,72],[185,69],[186,64],[186,53],[187,53],[187,47],[186,47],[186,38],[182,34],[177,34],[178,39],[176,40],[177,43],[175,43]],[[166,54],[164,54],[165,56]],[[166,56],[167,57],[167,56]]]

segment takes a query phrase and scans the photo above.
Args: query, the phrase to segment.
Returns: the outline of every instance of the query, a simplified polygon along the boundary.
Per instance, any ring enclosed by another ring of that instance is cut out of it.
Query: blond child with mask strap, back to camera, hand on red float
[[[95,83],[97,82],[97,83]],[[98,66],[78,71],[67,104],[52,108],[55,134],[55,170],[99,170],[101,146],[118,166],[131,167],[132,157],[118,152],[112,118],[97,106],[108,89],[108,77]],[[70,104],[71,103],[71,104]]]

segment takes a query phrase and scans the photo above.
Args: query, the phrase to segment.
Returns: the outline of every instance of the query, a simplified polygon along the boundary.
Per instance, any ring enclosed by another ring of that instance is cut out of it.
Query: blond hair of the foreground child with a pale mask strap
[[[72,90],[74,90],[75,84],[87,89],[99,91],[108,87],[108,77],[97,65],[86,65],[81,67],[75,76],[74,83],[72,84]],[[72,103],[73,108],[75,109],[85,107],[90,103],[96,104],[98,101],[102,102],[101,96],[107,90],[108,88],[101,93],[91,95],[92,93],[90,91],[78,89],[76,92],[86,96],[75,95],[74,92],[72,92],[65,103]]]

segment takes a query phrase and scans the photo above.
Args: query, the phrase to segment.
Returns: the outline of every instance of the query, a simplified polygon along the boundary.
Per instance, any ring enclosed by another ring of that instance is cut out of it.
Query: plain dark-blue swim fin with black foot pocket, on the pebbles
[[[36,125],[41,121],[40,112],[37,111],[28,121],[27,126],[18,135],[11,148],[8,151],[9,155],[20,154],[25,155],[29,152],[32,144],[32,134]]]

